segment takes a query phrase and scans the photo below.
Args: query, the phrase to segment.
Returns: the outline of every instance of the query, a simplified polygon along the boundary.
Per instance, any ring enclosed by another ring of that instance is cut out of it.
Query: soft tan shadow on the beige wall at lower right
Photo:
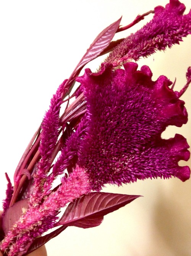
[[[191,166],[191,161],[188,165]],[[154,230],[157,230],[159,240],[173,256],[191,255],[191,205],[188,205],[190,194],[191,180],[180,184],[175,179],[168,193],[160,190],[160,197],[154,208]]]

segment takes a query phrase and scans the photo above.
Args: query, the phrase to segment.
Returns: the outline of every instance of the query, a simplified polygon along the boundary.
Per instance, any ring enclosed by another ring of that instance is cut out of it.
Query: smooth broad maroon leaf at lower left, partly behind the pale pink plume
[[[28,201],[29,199],[18,201],[5,211],[5,215],[3,215],[2,218],[2,229],[5,235],[14,225],[14,223],[19,220],[20,216],[23,214],[24,208],[28,208]]]

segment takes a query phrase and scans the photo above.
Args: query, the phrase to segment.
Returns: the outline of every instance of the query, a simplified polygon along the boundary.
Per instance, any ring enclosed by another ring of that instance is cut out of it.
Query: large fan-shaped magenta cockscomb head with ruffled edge
[[[87,101],[87,130],[79,152],[91,186],[100,190],[106,183],[135,182],[145,178],[189,178],[186,139],[179,134],[161,138],[167,126],[187,122],[185,102],[170,89],[165,76],[152,81],[148,66],[127,63],[112,71],[103,64],[99,73],[86,69],[78,78]]]

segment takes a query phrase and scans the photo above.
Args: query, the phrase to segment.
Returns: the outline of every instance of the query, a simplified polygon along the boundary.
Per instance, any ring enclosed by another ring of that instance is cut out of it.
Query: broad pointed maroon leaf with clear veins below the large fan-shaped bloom
[[[138,197],[140,196],[103,192],[89,193],[68,205],[57,226],[77,226],[79,228],[99,226],[104,215],[118,210]]]

